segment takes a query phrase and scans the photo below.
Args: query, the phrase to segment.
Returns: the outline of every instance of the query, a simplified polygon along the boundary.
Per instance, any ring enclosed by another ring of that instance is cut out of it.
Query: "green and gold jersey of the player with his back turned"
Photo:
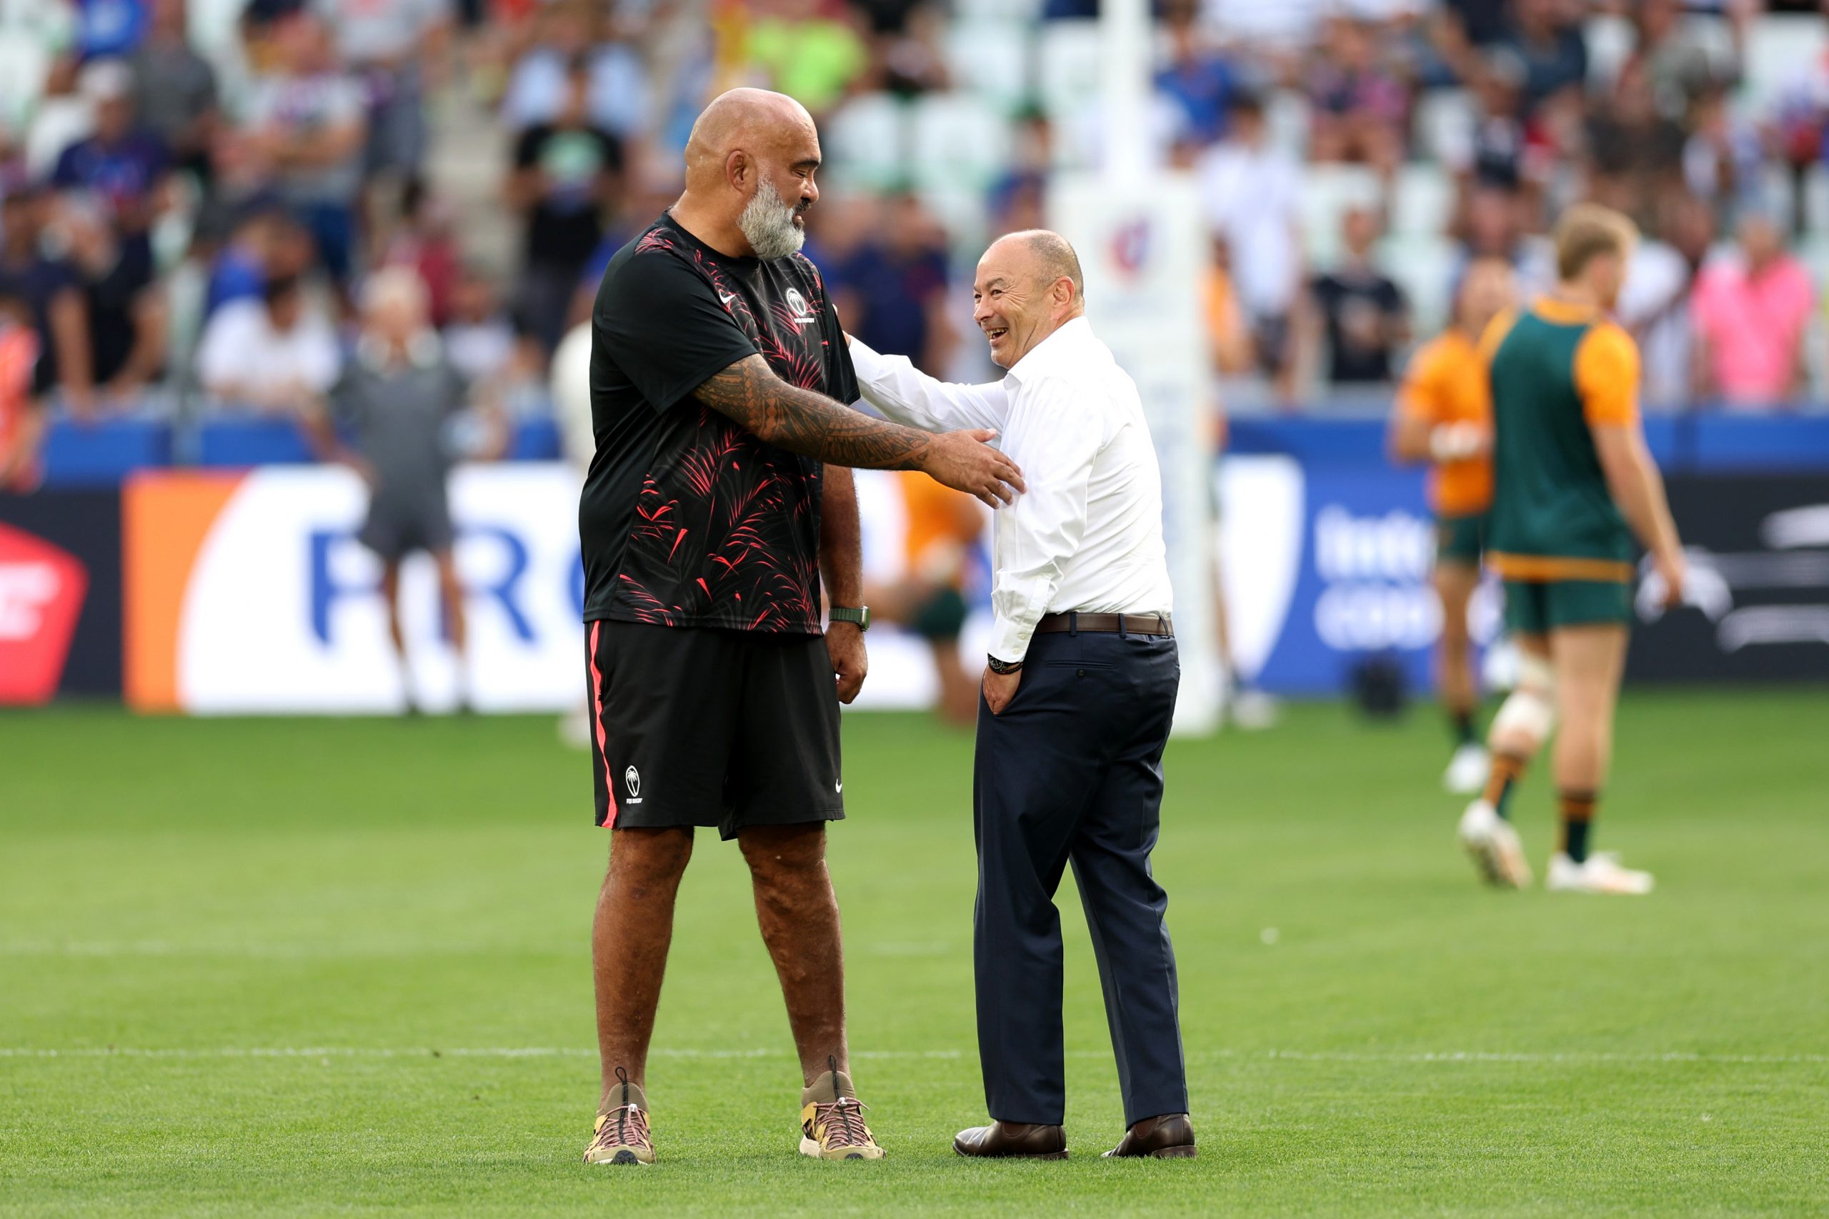
[[[1630,580],[1633,540],[1608,492],[1595,426],[1639,425],[1639,348],[1595,309],[1538,298],[1487,328],[1492,516],[1507,580]]]

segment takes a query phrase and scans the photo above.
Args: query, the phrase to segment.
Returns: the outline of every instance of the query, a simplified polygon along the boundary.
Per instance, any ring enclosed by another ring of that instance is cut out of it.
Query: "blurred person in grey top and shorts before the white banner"
[[[477,395],[487,437],[479,456],[505,448],[501,414]],[[470,403],[470,386],[432,329],[426,286],[408,267],[373,275],[362,291],[362,337],[327,405],[313,410],[320,456],[355,469],[369,487],[368,520],[357,538],[382,564],[388,633],[401,657],[408,707],[415,705],[401,628],[401,562],[426,551],[439,571],[439,599],[457,653],[457,701],[468,707],[463,586],[454,560],[446,481],[454,461],[450,423]]]

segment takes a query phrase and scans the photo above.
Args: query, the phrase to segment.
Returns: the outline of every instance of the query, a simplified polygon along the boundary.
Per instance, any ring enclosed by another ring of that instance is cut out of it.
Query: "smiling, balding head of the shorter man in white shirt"
[[[1086,311],[1079,254],[1048,229],[991,242],[971,286],[971,320],[991,342],[991,361],[1011,368],[1035,344]]]

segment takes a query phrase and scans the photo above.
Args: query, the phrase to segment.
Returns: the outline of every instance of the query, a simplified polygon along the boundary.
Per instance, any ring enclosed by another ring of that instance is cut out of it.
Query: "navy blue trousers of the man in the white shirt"
[[[1149,864],[1180,677],[1174,639],[1050,633],[1030,642],[1002,714],[979,697],[973,961],[993,1118],[1059,1126],[1066,1113],[1054,893],[1070,862],[1099,961],[1125,1124],[1187,1113],[1169,897]]]

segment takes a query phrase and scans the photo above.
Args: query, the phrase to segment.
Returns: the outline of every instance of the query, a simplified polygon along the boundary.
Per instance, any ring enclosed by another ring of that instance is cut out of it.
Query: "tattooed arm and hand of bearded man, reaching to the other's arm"
[[[924,470],[991,507],[1013,502],[1022,491],[1015,461],[984,443],[995,436],[989,428],[929,436],[872,419],[823,394],[788,384],[761,355],[748,355],[715,373],[693,397],[770,445],[830,465]]]

